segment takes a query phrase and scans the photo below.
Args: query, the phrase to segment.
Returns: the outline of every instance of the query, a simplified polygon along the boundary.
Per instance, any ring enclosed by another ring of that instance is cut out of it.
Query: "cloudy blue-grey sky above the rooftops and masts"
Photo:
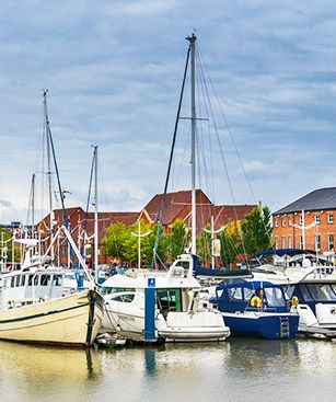
[[[221,143],[204,153],[212,184],[198,186],[216,204],[260,200],[273,211],[335,186],[334,1],[3,0],[0,223],[25,221],[32,174],[46,177],[43,89],[66,206],[85,207],[91,145],[101,210],[138,211],[162,193],[193,32]],[[184,117],[188,103],[185,94]],[[170,191],[189,187],[189,120],[181,127]]]

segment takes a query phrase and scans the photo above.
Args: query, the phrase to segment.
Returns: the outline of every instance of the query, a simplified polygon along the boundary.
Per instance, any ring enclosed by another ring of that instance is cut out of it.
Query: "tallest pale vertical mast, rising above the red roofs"
[[[192,254],[196,254],[196,106],[195,106],[195,42],[196,36],[187,37],[190,48],[190,90],[192,90]]]

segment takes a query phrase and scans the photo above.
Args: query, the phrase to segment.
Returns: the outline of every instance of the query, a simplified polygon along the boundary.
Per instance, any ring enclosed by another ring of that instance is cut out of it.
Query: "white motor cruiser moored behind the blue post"
[[[181,255],[169,272],[142,271],[117,274],[101,287],[106,302],[102,332],[143,337],[144,289],[155,279],[157,335],[173,342],[223,341],[230,335],[221,314],[198,299],[201,289],[193,276],[193,257]]]

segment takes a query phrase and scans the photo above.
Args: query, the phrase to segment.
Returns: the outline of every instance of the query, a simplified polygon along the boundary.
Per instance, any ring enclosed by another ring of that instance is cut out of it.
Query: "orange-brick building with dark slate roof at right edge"
[[[304,248],[321,253],[334,252],[336,187],[315,189],[277,210],[273,214],[273,227],[276,249]]]

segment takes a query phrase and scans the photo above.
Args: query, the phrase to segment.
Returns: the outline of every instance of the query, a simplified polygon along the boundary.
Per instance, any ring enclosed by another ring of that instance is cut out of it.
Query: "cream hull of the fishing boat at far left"
[[[103,315],[103,299],[94,290],[0,312],[0,340],[89,347]]]

